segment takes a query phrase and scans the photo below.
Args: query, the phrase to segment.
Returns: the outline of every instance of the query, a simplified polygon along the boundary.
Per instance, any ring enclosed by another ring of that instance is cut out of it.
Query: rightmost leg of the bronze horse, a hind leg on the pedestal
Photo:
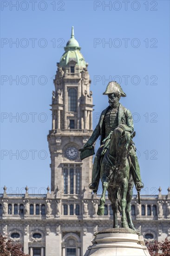
[[[129,228],[137,231],[137,229],[135,229],[133,222],[131,220],[131,199],[132,199],[132,195],[133,195],[133,185],[134,185],[133,182],[129,185],[127,196],[126,196],[126,201],[127,201],[126,217],[127,217]]]

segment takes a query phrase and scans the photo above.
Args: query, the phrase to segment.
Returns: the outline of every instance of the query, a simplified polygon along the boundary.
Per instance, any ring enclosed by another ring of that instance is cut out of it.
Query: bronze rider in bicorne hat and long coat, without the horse
[[[111,81],[107,85],[107,88],[103,94],[108,95],[110,105],[102,111],[98,125],[83,148],[83,150],[89,148],[98,139],[98,137],[101,136],[100,147],[98,148],[93,163],[92,183],[89,185],[89,188],[92,189],[94,193],[96,193],[98,190],[100,180],[100,160],[102,155],[105,154],[107,148],[109,148],[109,141],[112,132],[118,126],[123,127],[125,131],[130,133],[133,133],[134,131],[131,112],[119,103],[120,97],[126,96],[121,86],[116,81]],[[132,163],[131,174],[137,191],[140,191],[144,187],[144,184],[141,181],[140,168],[135,151],[136,148],[133,143],[132,149],[129,153]]]

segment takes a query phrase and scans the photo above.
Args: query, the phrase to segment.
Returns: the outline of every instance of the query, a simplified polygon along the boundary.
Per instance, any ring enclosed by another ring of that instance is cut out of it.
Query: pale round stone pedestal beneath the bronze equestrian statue
[[[95,234],[85,256],[150,256],[144,237],[132,229],[106,229]]]

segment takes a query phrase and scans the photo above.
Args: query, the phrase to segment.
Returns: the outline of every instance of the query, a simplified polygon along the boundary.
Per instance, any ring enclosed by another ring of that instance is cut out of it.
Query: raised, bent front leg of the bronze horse
[[[108,183],[109,179],[107,176],[102,175],[101,181],[102,181],[103,191],[102,191],[102,196],[100,198],[100,205],[98,206],[97,215],[104,215],[104,213],[105,213],[105,193],[109,186],[109,183]]]

